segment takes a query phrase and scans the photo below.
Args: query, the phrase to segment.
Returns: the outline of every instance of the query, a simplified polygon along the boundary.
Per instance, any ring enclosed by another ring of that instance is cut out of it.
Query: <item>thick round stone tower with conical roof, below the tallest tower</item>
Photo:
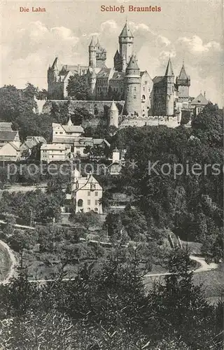
[[[141,76],[137,57],[132,55],[125,73],[125,112],[141,115]]]

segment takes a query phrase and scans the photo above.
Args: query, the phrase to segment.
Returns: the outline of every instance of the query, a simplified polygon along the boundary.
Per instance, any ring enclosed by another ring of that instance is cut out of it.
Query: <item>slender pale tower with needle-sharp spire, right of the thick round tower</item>
[[[174,115],[174,70],[172,62],[169,57],[167,69],[165,72],[165,84],[166,84],[166,109],[165,116]]]

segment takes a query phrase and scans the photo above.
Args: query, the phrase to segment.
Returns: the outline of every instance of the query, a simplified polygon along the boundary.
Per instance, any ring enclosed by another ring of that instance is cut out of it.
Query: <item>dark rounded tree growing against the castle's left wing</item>
[[[71,76],[66,90],[73,99],[90,100],[92,97],[86,76],[79,76],[78,74]]]

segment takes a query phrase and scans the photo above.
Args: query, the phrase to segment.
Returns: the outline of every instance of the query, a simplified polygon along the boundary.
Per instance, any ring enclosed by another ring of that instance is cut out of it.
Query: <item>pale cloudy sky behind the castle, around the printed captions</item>
[[[125,6],[125,13],[101,6]],[[128,12],[128,6],[160,6],[160,12]],[[29,13],[20,12],[29,8]],[[31,12],[45,8],[45,12]],[[190,75],[190,96],[206,92],[223,106],[222,0],[2,1],[1,86],[47,88],[47,70],[55,55],[62,64],[87,64],[92,35],[107,50],[113,66],[118,36],[127,20],[141,71],[151,78],[165,74],[169,55],[175,76],[183,59]]]

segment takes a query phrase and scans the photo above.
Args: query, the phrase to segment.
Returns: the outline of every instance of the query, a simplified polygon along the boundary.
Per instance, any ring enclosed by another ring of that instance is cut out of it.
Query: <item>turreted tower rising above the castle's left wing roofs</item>
[[[92,68],[105,68],[106,62],[106,50],[102,48],[99,43],[99,39],[95,39],[92,36],[92,40],[89,45],[89,66]]]

